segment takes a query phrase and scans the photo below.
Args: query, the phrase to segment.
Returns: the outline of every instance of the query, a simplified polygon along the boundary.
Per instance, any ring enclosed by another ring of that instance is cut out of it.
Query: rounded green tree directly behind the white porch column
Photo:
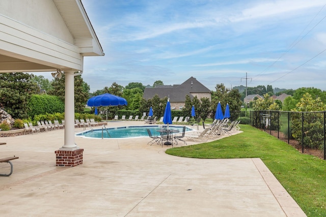
[[[65,74],[62,78],[56,78],[51,82],[52,89],[48,94],[57,96],[62,102],[65,102]],[[87,100],[89,99],[89,86],[86,84],[81,75],[74,77],[74,98],[75,112],[83,113]]]

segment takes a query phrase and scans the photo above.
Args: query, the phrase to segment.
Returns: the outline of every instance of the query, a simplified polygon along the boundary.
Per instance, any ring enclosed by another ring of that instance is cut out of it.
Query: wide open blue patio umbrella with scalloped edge
[[[127,101],[122,98],[112,94],[102,94],[90,98],[87,101],[88,106],[126,106],[128,105]],[[107,120],[107,108],[106,108],[106,120]]]

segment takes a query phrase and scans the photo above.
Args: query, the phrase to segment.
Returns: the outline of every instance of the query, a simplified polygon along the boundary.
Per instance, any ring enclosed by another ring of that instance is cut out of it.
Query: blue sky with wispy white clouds
[[[83,0],[105,56],[84,58],[91,92],[129,82],[326,90],[326,2]],[[242,78],[242,79],[241,79]]]

